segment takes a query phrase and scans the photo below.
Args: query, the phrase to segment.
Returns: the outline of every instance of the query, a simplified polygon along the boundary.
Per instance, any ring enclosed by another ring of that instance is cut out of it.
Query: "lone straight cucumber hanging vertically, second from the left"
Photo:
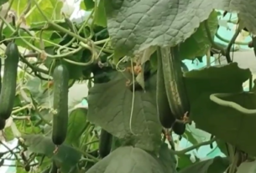
[[[68,126],[68,69],[62,64],[55,67],[54,74],[54,110],[52,141],[61,145],[65,141]]]

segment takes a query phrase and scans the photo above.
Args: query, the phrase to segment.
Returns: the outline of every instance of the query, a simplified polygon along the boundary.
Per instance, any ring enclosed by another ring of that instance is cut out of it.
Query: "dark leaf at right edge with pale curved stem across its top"
[[[196,127],[216,135],[217,138],[237,146],[248,154],[256,155],[256,136],[252,133],[256,130],[256,95],[244,92],[226,94],[218,98],[226,101],[227,106],[213,102],[208,94],[202,94],[193,104],[191,119],[196,122]]]

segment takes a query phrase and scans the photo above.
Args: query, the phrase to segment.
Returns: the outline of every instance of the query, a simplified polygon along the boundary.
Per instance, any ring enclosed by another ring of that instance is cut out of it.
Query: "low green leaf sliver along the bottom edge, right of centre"
[[[227,169],[228,165],[229,161],[227,158],[215,157],[214,159],[192,164],[185,169],[180,170],[179,173],[223,173]]]

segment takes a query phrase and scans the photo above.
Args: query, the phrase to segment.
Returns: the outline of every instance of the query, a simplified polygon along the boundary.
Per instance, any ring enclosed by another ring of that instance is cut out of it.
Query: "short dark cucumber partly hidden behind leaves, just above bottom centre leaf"
[[[106,130],[101,131],[100,144],[99,144],[99,155],[104,158],[111,152],[112,148],[112,135]]]

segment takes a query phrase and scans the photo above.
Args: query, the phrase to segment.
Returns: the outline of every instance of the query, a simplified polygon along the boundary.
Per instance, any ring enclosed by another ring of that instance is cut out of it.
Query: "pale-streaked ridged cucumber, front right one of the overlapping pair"
[[[176,119],[182,120],[184,114],[189,111],[190,105],[183,81],[178,48],[178,46],[160,48],[160,52],[170,110]]]

